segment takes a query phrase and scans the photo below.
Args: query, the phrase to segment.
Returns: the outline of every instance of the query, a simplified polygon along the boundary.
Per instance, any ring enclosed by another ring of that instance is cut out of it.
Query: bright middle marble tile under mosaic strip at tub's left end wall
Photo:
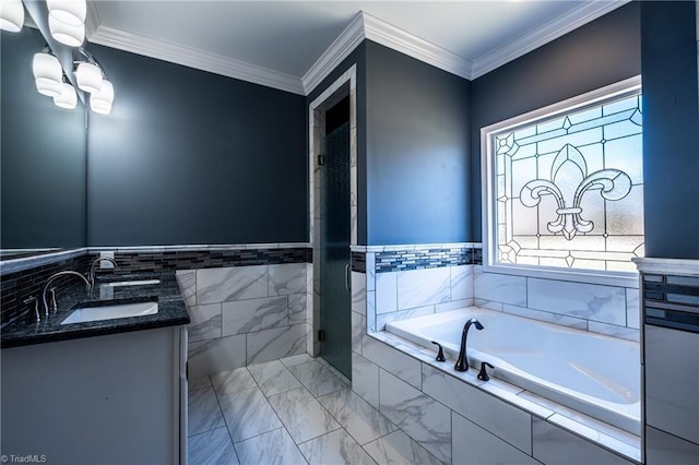
[[[448,266],[398,272],[399,310],[449,300],[451,300],[451,273]]]

